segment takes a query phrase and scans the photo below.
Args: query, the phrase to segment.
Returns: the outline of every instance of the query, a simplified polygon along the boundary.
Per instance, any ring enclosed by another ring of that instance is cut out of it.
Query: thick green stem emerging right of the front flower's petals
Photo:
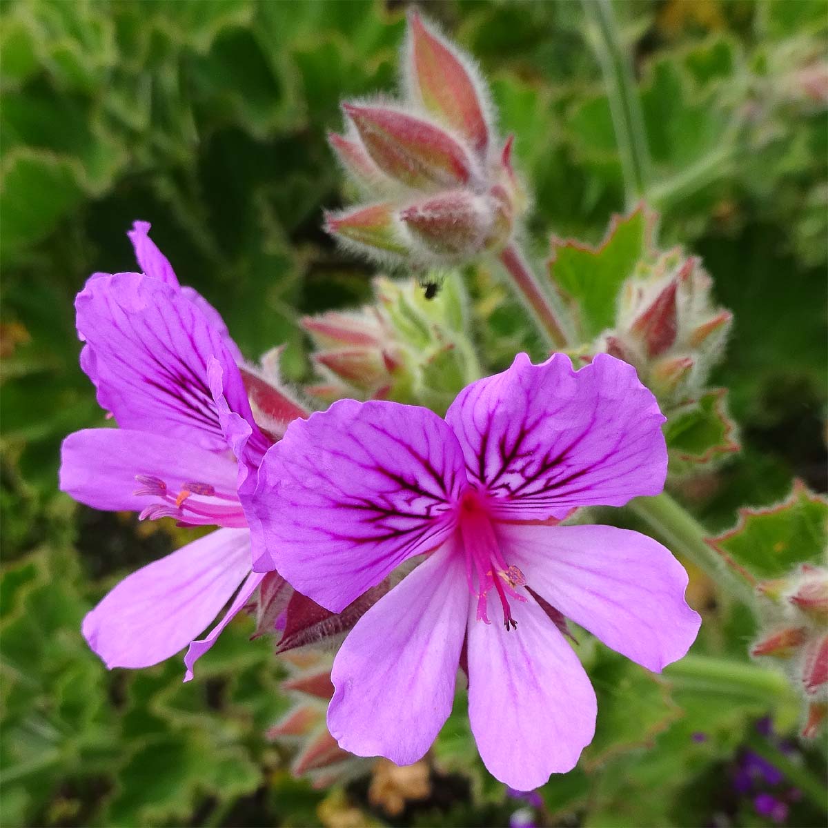
[[[667,492],[655,498],[637,498],[629,508],[661,537],[665,546],[710,575],[725,594],[743,604],[753,604],[751,585],[728,569],[722,556],[707,542],[705,527]]]

